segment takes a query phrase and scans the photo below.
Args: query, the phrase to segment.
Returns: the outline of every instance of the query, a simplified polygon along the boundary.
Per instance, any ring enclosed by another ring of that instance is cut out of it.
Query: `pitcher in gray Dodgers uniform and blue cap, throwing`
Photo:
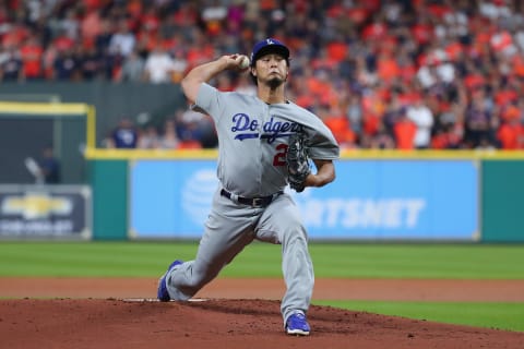
[[[315,171],[303,185],[335,179],[340,147],[319,117],[286,98],[289,49],[267,38],[254,45],[250,65],[242,55],[226,55],[193,68],[181,81],[193,110],[210,115],[218,136],[218,186],[193,261],[172,262],[158,282],[160,301],[194,296],[254,240],[282,245],[286,292],[281,311],[289,335],[310,334],[307,311],[314,275],[308,234],[288,184],[289,137],[302,133]],[[249,71],[257,95],[222,92],[210,85],[227,71]],[[295,188],[294,188],[295,189]],[[308,189],[309,190],[309,189]],[[300,192],[301,189],[297,189]]]

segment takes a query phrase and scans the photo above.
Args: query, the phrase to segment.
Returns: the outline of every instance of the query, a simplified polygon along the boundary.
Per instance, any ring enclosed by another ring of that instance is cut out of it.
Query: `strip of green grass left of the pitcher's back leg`
[[[196,243],[2,242],[0,276],[150,277],[195,251]]]

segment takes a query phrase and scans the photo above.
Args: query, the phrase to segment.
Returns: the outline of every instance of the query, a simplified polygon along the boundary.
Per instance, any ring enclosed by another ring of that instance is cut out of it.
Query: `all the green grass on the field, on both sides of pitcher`
[[[0,277],[157,277],[196,242],[0,242]],[[315,276],[524,279],[524,244],[312,243]],[[223,277],[282,277],[278,245],[253,243]],[[325,301],[356,311],[524,332],[524,303]]]

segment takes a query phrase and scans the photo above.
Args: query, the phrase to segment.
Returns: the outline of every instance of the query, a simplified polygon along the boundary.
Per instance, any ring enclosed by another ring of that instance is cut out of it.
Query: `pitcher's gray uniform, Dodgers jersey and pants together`
[[[194,296],[255,239],[279,243],[286,284],[281,304],[285,324],[291,314],[307,312],[314,285],[308,236],[298,207],[287,193],[275,195],[287,185],[288,137],[305,132],[313,159],[338,158],[338,145],[317,116],[293,103],[267,105],[254,96],[218,92],[202,84],[194,108],[215,122],[221,188],[213,197],[196,257],[166,276],[169,297],[187,300]],[[269,206],[252,207],[225,197],[222,189],[243,197],[274,198]]]

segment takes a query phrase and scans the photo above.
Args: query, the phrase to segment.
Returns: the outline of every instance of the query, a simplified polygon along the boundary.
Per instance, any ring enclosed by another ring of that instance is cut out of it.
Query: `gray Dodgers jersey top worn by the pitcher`
[[[193,109],[213,118],[218,136],[217,176],[237,195],[265,196],[287,185],[286,153],[294,132],[307,133],[311,158],[338,158],[330,129],[293,103],[267,105],[254,96],[202,84]]]

